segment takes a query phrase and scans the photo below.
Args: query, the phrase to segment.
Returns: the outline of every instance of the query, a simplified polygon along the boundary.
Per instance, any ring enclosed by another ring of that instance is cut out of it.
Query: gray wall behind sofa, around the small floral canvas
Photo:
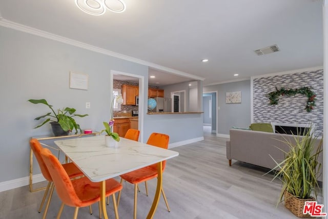
[[[229,134],[231,127],[248,128],[251,124],[251,81],[232,82],[203,87],[203,92],[218,91],[219,134]],[[226,92],[241,91],[240,104],[226,104]]]

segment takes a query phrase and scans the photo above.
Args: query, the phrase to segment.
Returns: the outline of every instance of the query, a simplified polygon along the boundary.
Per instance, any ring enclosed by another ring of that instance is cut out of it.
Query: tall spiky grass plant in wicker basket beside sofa
[[[275,177],[282,182],[279,201],[284,200],[285,207],[298,217],[310,217],[303,214],[306,201],[315,201],[318,194],[318,177],[321,164],[318,162],[322,151],[322,138],[310,129],[304,136],[294,135],[294,142],[284,141],[289,151],[283,151],[285,158],[274,169]],[[270,172],[271,172],[270,171]]]

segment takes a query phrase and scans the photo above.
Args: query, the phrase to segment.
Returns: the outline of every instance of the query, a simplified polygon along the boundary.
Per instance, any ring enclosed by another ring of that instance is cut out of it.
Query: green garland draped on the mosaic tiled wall
[[[312,87],[301,87],[296,89],[285,89],[284,87],[280,88],[279,90],[276,87],[276,91],[272,91],[265,96],[269,97],[270,105],[277,105],[279,101],[279,96],[295,96],[296,94],[306,95],[308,97],[308,101],[306,102],[305,110],[307,112],[311,112],[316,106],[315,101],[317,94],[313,92]]]

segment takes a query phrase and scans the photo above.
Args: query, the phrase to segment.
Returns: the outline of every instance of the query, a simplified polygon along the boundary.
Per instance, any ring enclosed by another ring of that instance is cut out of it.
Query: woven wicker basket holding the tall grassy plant
[[[291,193],[284,192],[285,207],[298,217],[312,217],[310,214],[303,214],[304,204],[308,201],[316,201],[315,198],[301,199]],[[314,218],[314,217],[312,217]]]

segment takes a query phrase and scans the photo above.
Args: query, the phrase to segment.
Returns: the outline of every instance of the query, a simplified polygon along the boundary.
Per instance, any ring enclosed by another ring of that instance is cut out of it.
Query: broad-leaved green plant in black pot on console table
[[[44,104],[47,105],[52,112],[48,112],[45,115],[38,116],[34,118],[34,120],[40,120],[40,118],[48,117],[42,124],[34,127],[39,128],[46,123],[50,122],[52,131],[55,136],[63,136],[68,135],[70,131],[73,131],[75,129],[75,134],[77,133],[77,130],[81,132],[80,126],[75,122],[74,116],[78,117],[85,117],[88,114],[80,115],[80,114],[74,114],[76,109],[74,108],[63,108],[58,109],[57,112],[55,112],[52,108],[52,105],[48,104],[48,102],[45,99],[29,99],[28,102],[32,104]]]

